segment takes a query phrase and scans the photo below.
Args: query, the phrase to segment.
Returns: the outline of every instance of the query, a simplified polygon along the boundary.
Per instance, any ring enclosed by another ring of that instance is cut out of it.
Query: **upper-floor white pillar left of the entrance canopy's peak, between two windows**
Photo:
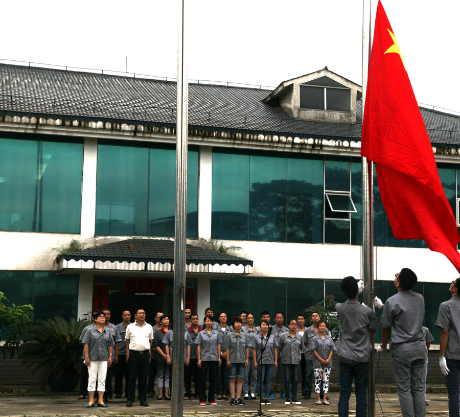
[[[81,226],[83,242],[94,237],[96,225],[96,174],[98,168],[98,140],[85,138],[83,151],[83,181],[81,189]]]

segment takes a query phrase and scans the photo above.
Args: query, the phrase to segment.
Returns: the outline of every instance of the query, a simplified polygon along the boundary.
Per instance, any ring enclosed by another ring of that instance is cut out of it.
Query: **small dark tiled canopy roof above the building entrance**
[[[166,239],[126,239],[82,249],[61,257],[65,261],[174,263],[174,241]],[[187,245],[187,265],[250,265],[252,261],[228,253]]]

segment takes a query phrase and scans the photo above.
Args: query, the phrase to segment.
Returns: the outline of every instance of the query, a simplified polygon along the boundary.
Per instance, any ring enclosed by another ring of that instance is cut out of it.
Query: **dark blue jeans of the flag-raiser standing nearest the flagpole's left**
[[[356,417],[366,417],[369,361],[358,362],[339,356],[339,372],[340,397],[337,405],[339,417],[348,417],[353,378],[355,379]]]

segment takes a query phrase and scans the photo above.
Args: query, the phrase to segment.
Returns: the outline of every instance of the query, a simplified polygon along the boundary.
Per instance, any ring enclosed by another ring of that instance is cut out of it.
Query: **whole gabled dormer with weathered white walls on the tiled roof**
[[[294,119],[326,123],[356,123],[356,100],[361,86],[329,71],[320,71],[282,82],[264,100],[281,106]]]

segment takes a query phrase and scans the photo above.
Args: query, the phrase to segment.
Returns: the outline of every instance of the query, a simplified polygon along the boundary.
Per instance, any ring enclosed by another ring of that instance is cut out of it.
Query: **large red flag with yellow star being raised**
[[[361,155],[374,161],[396,239],[421,239],[460,272],[459,237],[419,106],[382,4],[377,6]]]

